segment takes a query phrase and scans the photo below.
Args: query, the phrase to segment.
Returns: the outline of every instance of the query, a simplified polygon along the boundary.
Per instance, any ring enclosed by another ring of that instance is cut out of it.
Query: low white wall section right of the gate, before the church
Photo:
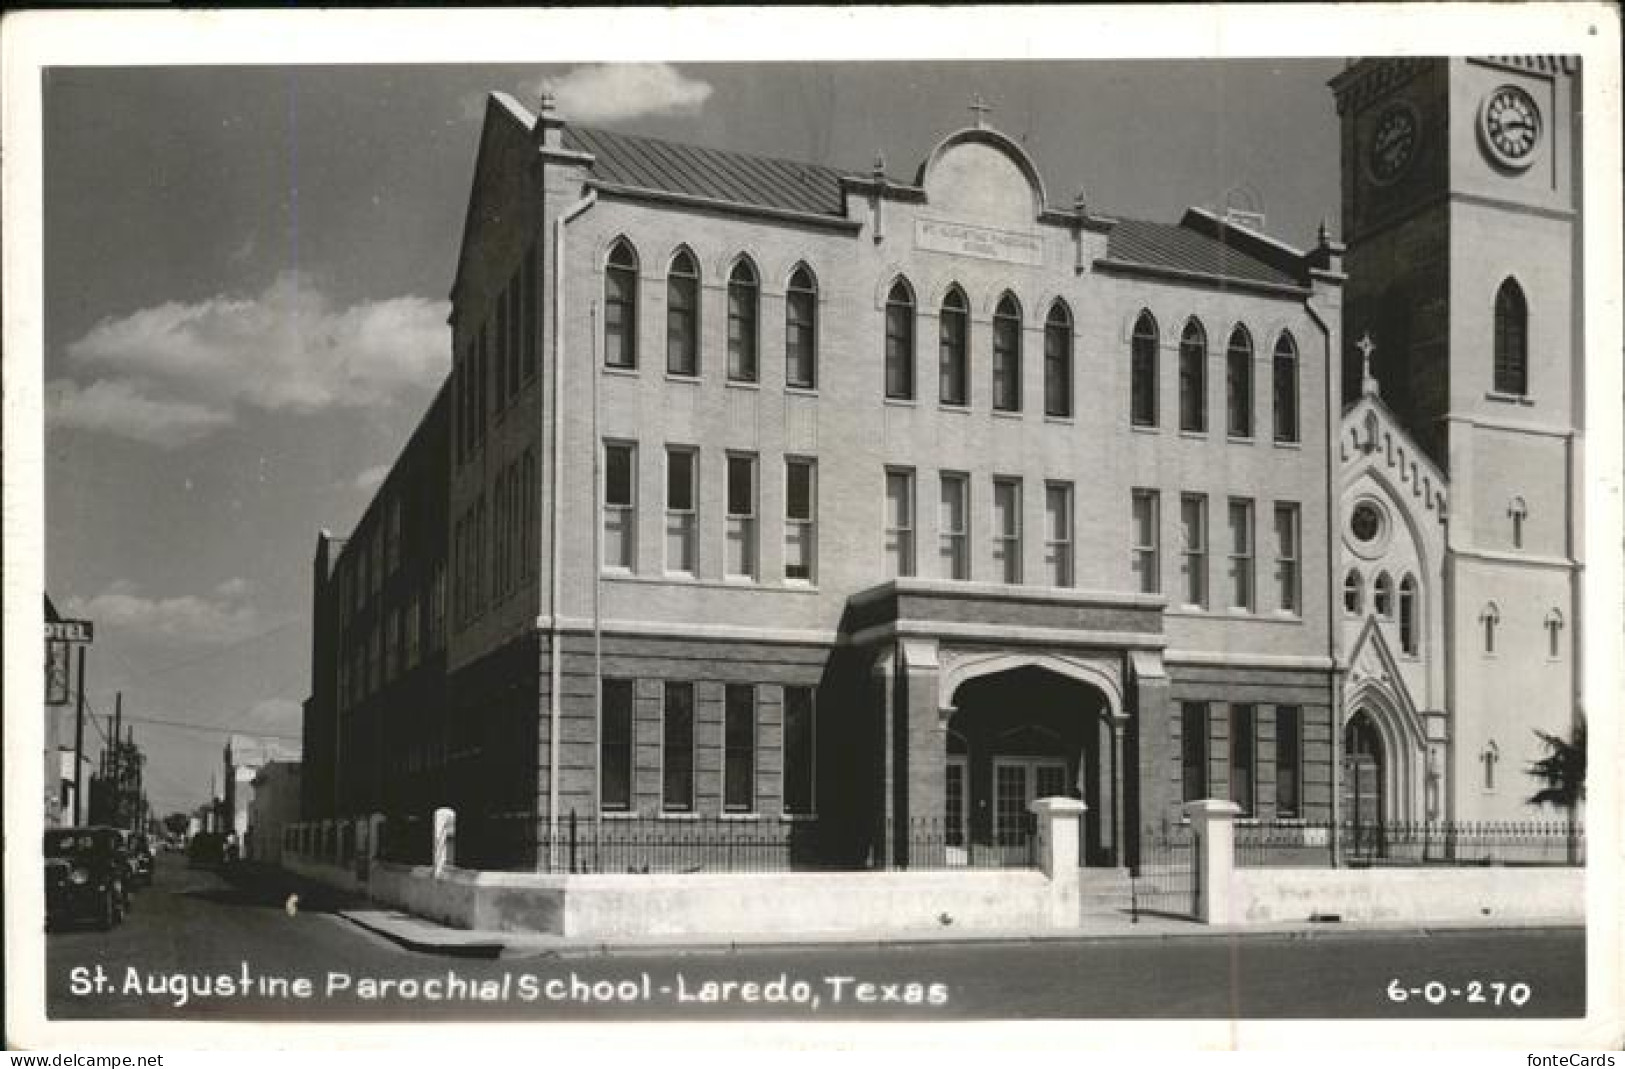
[[[1485,921],[1586,918],[1583,868],[1237,869],[1228,916],[1268,924],[1337,915],[1344,921]]]

